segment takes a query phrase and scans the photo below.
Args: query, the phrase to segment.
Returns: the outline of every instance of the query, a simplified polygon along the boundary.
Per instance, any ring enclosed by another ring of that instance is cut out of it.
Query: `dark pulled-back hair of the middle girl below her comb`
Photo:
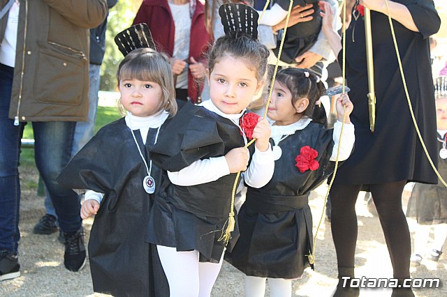
[[[265,45],[244,33],[237,33],[235,37],[222,36],[216,40],[208,54],[208,70],[212,73],[214,65],[220,59],[224,56],[233,56],[247,61],[247,67],[256,71],[256,78],[258,82],[261,82],[267,68],[268,55],[268,48]]]

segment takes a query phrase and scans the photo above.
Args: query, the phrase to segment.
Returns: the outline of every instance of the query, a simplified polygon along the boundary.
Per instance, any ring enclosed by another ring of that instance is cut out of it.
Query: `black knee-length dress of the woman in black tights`
[[[393,21],[411,105],[425,145],[437,164],[436,114],[428,37],[439,29],[432,1],[396,0],[410,11],[420,33]],[[404,93],[388,17],[371,12],[376,89],[376,126],[369,131],[365,29],[362,17],[346,31],[346,78],[354,109],[356,148],[337,172],[335,183],[369,185],[394,181],[437,183],[419,142]],[[338,61],[342,63],[342,51]]]

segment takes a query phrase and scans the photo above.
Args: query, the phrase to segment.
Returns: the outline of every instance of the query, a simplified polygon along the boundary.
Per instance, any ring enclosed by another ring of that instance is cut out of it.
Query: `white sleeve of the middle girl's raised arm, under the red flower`
[[[255,146],[249,168],[244,173],[245,183],[251,188],[262,188],[272,179],[273,172],[274,157],[270,144],[267,151],[259,151]]]

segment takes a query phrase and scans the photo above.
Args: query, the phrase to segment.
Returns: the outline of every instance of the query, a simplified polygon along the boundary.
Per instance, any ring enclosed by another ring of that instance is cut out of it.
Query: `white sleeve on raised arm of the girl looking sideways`
[[[337,149],[340,140],[340,132],[342,132],[342,122],[337,121],[334,124],[334,131],[332,139],[334,139],[334,148],[332,148],[332,155],[330,156],[330,161],[337,160]],[[344,123],[342,143],[340,144],[340,153],[338,156],[339,161],[344,161],[351,155],[352,149],[354,147],[354,142],[356,141],[356,136],[354,135],[354,125],[353,123]]]

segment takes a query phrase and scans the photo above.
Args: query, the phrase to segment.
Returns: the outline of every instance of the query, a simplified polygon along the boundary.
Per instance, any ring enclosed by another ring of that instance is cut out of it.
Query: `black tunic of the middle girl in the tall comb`
[[[186,104],[152,148],[152,160],[163,170],[177,172],[193,162],[225,155],[244,146],[240,128],[205,107]],[[221,231],[230,213],[230,198],[236,174],[192,186],[174,185],[164,175],[165,190],[156,196],[149,213],[147,241],[175,247],[177,251],[198,250],[200,261],[221,259]],[[239,234],[237,225],[226,248]]]

